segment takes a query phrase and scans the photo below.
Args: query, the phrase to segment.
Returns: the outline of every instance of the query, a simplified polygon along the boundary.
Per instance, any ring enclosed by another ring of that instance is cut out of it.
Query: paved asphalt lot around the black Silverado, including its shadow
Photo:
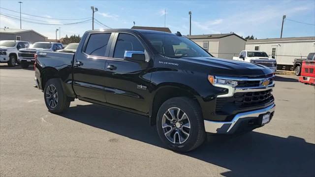
[[[163,147],[145,117],[76,100],[47,111],[34,71],[0,64],[0,176],[315,176],[315,87],[276,76],[276,113],[251,133]]]

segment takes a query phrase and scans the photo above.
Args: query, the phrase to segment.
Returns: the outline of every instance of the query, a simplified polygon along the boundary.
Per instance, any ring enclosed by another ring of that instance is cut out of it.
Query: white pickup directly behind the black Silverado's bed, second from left
[[[23,68],[28,68],[30,64],[34,64],[34,54],[37,51],[57,51],[63,49],[63,44],[57,42],[35,42],[30,48],[20,49],[18,60]]]

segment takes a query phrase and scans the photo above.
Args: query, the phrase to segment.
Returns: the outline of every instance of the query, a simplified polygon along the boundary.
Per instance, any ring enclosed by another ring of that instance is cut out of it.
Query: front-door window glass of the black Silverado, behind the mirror
[[[144,52],[144,47],[135,36],[131,34],[120,33],[115,46],[114,58],[124,59],[125,51]]]

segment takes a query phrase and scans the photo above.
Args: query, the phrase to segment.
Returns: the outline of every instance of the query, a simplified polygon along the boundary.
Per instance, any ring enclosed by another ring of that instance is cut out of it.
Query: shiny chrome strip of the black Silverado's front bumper
[[[236,125],[237,122],[244,120],[245,118],[258,118],[260,115],[273,113],[275,112],[276,105],[273,104],[268,106],[267,108],[249,111],[245,113],[239,113],[235,115],[232,121],[210,121],[204,120],[205,130],[209,133],[216,133],[216,134],[231,134],[231,129],[235,131],[238,126]],[[235,126],[236,125],[236,126]]]

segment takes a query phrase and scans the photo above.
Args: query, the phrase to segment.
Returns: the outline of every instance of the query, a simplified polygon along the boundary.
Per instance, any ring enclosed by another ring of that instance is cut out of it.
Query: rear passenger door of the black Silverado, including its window
[[[105,64],[111,43],[111,32],[91,33],[81,51],[75,54],[73,89],[79,98],[106,102]]]

